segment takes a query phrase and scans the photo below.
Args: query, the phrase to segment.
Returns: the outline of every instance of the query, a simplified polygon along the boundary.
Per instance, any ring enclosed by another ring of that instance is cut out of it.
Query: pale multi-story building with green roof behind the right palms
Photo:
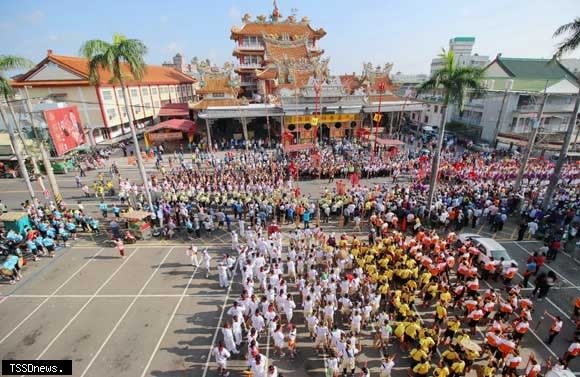
[[[570,117],[577,116],[572,111],[578,82],[572,72],[548,59],[505,58],[500,54],[485,68],[484,77],[485,92],[468,99],[462,114],[454,109],[450,120],[479,128],[483,140],[493,142],[497,135],[498,142],[525,145],[536,125],[545,90],[547,102],[538,140],[544,149],[559,149]]]

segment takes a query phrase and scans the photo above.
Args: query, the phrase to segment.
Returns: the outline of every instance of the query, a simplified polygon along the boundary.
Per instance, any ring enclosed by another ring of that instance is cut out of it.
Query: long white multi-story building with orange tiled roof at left
[[[194,100],[195,80],[173,68],[147,65],[142,80],[131,79],[128,66],[125,84],[133,117],[138,128],[157,122],[163,116],[163,105]],[[100,81],[89,80],[87,59],[56,55],[47,57],[12,85],[21,97],[25,91],[31,98],[51,98],[76,104],[91,143],[119,139],[129,135],[129,117],[121,87],[111,81],[111,73],[101,70]]]

